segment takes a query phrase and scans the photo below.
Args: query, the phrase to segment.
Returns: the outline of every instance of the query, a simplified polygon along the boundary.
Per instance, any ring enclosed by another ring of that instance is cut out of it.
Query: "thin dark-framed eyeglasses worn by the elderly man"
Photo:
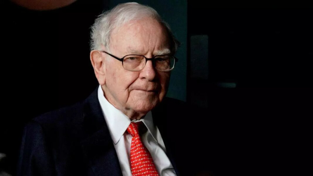
[[[105,51],[101,52],[107,53]],[[154,56],[153,58],[146,58],[145,56],[137,54],[126,55],[123,58],[118,58],[110,53],[107,54],[121,61],[123,68],[129,71],[141,71],[145,67],[147,61],[151,60],[152,65],[156,68],[156,70],[167,72],[174,68],[175,62],[178,62],[176,57],[167,54]]]

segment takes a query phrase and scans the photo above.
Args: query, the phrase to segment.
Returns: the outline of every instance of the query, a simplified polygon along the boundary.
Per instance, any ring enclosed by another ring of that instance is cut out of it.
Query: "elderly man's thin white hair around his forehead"
[[[132,20],[141,18],[153,18],[164,25],[170,39],[171,53],[176,53],[180,43],[173,36],[169,25],[162,20],[161,16],[155,9],[139,3],[122,3],[118,4],[112,10],[106,11],[95,19],[95,23],[91,26],[90,49],[101,50],[104,46],[109,50],[110,34],[113,29]]]

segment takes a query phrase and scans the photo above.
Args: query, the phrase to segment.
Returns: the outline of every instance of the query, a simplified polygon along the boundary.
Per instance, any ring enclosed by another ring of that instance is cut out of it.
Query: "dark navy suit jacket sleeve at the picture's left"
[[[22,145],[18,162],[18,176],[52,176],[57,175],[52,151],[47,146],[42,126],[33,121],[24,128]]]

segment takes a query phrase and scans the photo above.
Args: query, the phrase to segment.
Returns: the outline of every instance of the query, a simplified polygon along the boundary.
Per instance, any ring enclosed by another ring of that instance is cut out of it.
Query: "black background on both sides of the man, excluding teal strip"
[[[0,169],[14,175],[29,119],[83,100],[96,88],[86,59],[89,27],[107,4],[78,0],[57,10],[33,11],[2,2],[0,153],[7,158]],[[208,151],[203,152],[206,161],[198,161],[203,170],[214,175],[312,173],[312,17],[309,4],[188,1],[187,102],[206,113],[182,119],[209,126],[196,137],[203,141],[199,150]],[[196,35],[207,45],[193,47]],[[192,52],[205,53],[199,62],[208,67],[192,67]]]

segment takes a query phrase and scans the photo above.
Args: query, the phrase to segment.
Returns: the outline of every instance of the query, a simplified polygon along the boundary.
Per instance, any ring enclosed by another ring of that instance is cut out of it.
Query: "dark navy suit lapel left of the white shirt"
[[[81,147],[92,168],[89,171],[90,175],[122,175],[113,141],[98,101],[98,89],[85,101],[83,133]]]

